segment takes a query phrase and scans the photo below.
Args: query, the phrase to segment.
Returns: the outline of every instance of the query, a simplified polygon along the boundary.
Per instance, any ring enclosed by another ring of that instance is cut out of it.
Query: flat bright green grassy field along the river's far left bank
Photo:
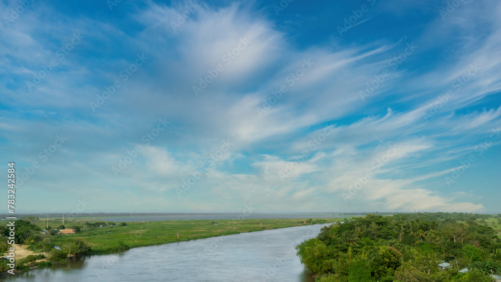
[[[80,218],[79,218],[80,219]],[[119,242],[130,247],[141,247],[195,240],[241,232],[261,231],[293,226],[306,225],[307,219],[241,219],[241,220],[172,220],[127,222],[126,226],[114,225],[103,227],[85,227],[82,220],[65,222],[65,226],[80,226],[81,232],[71,235],[55,235],[54,243],[64,241],[68,236],[78,237],[86,241],[95,253],[110,253],[119,248]],[[87,218],[86,218],[87,219]],[[315,218],[314,218],[315,219]],[[326,222],[342,221],[343,218],[322,218]],[[217,225],[212,223],[214,221]],[[219,223],[220,222],[220,223]],[[49,225],[56,228],[62,222],[49,220]],[[46,228],[47,223],[40,221],[37,225]],[[179,239],[177,239],[179,232]]]

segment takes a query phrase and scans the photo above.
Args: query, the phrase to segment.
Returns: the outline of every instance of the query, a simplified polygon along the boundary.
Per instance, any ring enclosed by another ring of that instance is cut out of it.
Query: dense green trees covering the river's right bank
[[[368,214],[326,226],[296,249],[322,282],[492,282],[489,275],[501,273],[501,240],[486,220],[492,216]],[[440,270],[442,261],[451,266]],[[470,272],[459,273],[464,267]]]

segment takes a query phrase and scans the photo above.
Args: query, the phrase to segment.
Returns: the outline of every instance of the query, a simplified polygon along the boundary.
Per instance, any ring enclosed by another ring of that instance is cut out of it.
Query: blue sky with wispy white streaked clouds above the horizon
[[[501,211],[501,4],[197,3],[0,3],[18,213]]]

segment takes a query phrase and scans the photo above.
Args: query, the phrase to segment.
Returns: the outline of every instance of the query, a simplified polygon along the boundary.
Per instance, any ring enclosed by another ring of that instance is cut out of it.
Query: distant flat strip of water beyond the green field
[[[221,219],[269,219],[269,218],[345,218],[347,215],[332,213],[173,213],[166,215],[111,216],[99,221],[161,221],[161,220],[221,220]]]

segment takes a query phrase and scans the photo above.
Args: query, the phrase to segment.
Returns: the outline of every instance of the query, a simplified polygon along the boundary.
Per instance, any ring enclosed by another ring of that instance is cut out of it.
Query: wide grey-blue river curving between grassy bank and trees
[[[133,248],[9,275],[5,281],[299,281],[313,277],[295,246],[325,224]]]

